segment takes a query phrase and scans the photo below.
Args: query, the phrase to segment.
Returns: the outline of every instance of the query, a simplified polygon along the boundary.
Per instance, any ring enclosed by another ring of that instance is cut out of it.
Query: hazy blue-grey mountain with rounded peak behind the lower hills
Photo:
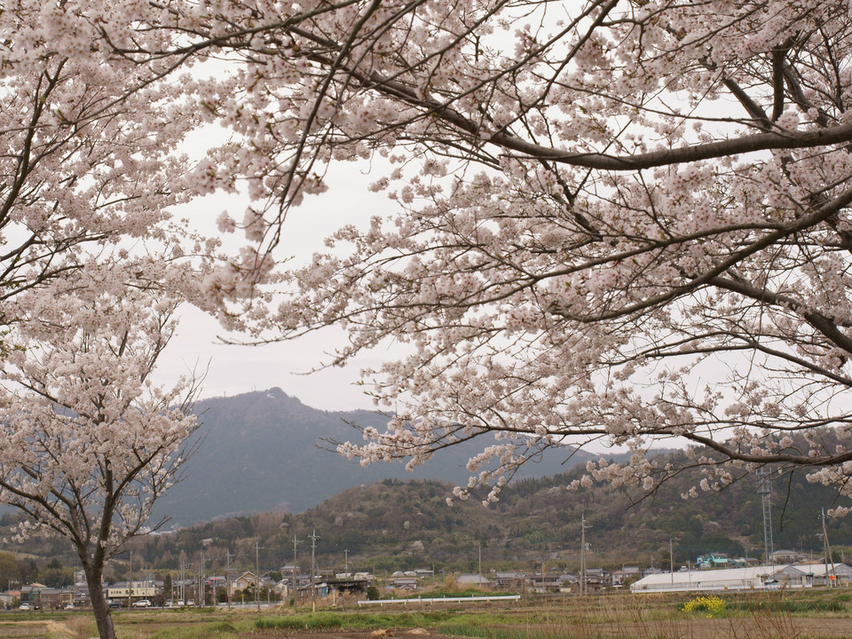
[[[195,412],[202,423],[201,446],[187,462],[185,478],[158,501],[154,521],[170,517],[173,525],[189,525],[264,510],[301,512],[346,488],[382,479],[465,485],[465,464],[486,446],[484,439],[453,446],[411,473],[401,463],[361,467],[319,447],[320,438],[359,438],[351,423],[383,430],[387,418],[381,414],[317,410],[279,388],[201,400]],[[525,464],[516,477],[554,475],[593,457],[551,450]]]

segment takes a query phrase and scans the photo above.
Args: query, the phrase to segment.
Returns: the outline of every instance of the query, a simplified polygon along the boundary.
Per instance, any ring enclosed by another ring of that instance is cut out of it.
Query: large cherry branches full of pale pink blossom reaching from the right
[[[195,184],[247,185],[220,224],[251,255],[334,187],[332,162],[368,163],[397,202],[290,272],[266,318],[285,338],[345,327],[330,364],[408,346],[365,371],[388,430],[344,454],[416,465],[482,439],[469,468],[498,467],[470,486],[499,488],[542,448],[603,440],[634,458],[593,475],[650,489],[677,469],[647,450],[680,440],[714,452],[694,460],[706,487],[724,461],[848,485],[848,0],[146,11],[170,42],[115,54],[229,65],[193,89],[233,130]]]

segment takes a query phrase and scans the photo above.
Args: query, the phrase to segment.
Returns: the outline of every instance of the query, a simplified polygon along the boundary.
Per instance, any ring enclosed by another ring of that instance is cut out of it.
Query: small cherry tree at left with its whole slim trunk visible
[[[21,292],[0,388],[0,502],[27,517],[20,536],[65,537],[83,565],[102,639],[114,637],[106,561],[148,521],[193,452],[196,390],[152,374],[179,302],[136,274],[144,262],[85,264]]]

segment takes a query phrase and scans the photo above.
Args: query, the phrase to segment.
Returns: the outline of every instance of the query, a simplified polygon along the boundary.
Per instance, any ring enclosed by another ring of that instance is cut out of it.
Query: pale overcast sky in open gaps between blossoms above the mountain
[[[365,223],[379,212],[393,210],[393,202],[385,195],[368,191],[367,184],[375,177],[366,177],[354,164],[338,164],[330,175],[327,193],[305,197],[302,206],[288,213],[278,256],[292,256],[293,264],[323,250],[323,240],[341,226]],[[197,220],[205,233],[218,233],[219,214],[227,209],[241,220],[246,205],[246,200],[236,196],[214,195],[177,209],[175,215],[191,217],[193,223]],[[234,233],[234,240],[241,241],[238,233]],[[326,330],[294,342],[254,347],[217,343],[221,334],[215,319],[185,305],[177,337],[160,360],[159,381],[171,383],[193,368],[200,372],[207,369],[201,398],[278,386],[304,404],[324,410],[374,407],[364,387],[356,383],[359,371],[366,366],[377,367],[387,352],[361,356],[348,367],[305,375],[328,360],[325,353],[334,343],[341,343],[343,331]]]

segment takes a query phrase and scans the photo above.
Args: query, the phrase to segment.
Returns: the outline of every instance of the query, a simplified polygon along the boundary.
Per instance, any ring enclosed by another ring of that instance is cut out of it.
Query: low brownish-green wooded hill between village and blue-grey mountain
[[[581,474],[574,469],[517,481],[487,508],[473,498],[447,505],[452,485],[446,483],[385,479],[349,488],[298,515],[237,517],[160,536],[141,544],[139,553],[153,567],[166,568],[182,553],[193,556],[202,540],[212,540],[207,553],[213,561],[225,561],[230,551],[250,564],[257,544],[270,565],[286,564],[292,561],[294,535],[303,540],[301,555],[308,548],[304,540],[315,530],[318,561],[328,566],[342,566],[345,550],[350,564],[363,569],[434,564],[472,570],[481,545],[483,561],[491,567],[542,561],[571,567],[579,558],[582,515],[596,563],[659,564],[668,556],[669,535],[679,562],[709,551],[763,553],[761,500],[751,477],[722,492],[699,492],[684,500],[681,494],[699,481],[696,473],[683,473],[644,499],[610,485],[567,490]],[[832,489],[809,484],[803,472],[777,481],[775,548],[821,552],[820,510],[834,501]],[[833,546],[852,545],[852,519],[829,519],[828,529]]]

